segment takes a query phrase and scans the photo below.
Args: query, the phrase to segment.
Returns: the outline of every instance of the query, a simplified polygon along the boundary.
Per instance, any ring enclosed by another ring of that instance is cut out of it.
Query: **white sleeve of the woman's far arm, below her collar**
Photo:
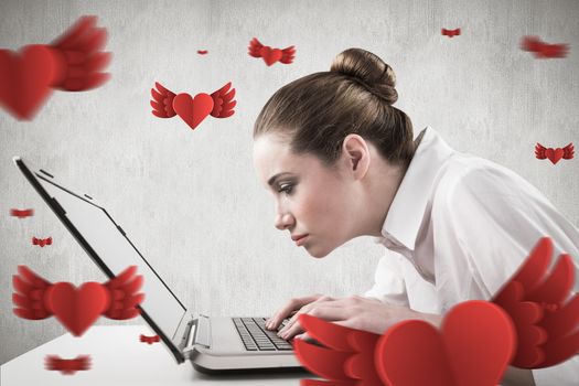
[[[374,286],[363,296],[378,299],[384,303],[408,305],[408,296],[403,272],[403,258],[399,254],[386,249],[386,255],[379,259],[378,266],[376,267]]]

